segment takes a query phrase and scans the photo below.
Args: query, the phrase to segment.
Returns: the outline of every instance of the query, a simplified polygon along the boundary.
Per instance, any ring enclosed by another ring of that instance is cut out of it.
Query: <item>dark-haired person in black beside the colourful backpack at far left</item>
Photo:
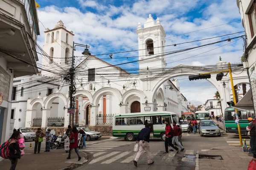
[[[10,139],[12,139],[12,141],[10,142],[8,149],[9,149],[9,154],[10,154],[10,160],[11,160],[11,168],[10,170],[15,170],[17,163],[18,163],[18,159],[20,159],[20,146],[19,146],[19,140],[20,138],[20,132],[19,131],[15,131],[14,133],[12,133],[12,136],[10,137]]]

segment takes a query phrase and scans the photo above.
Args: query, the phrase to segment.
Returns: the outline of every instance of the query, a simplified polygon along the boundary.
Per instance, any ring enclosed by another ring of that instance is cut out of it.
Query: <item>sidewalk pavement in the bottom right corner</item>
[[[221,156],[221,159],[200,159],[201,156]],[[242,147],[216,147],[209,151],[199,152],[199,170],[247,170],[252,156],[243,152]]]

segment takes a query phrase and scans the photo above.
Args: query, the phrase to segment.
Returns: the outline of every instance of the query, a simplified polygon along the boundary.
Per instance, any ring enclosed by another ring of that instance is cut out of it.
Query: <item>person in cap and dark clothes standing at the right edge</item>
[[[251,151],[249,155],[253,155],[255,149],[255,142],[256,142],[256,129],[255,123],[253,122],[253,118],[249,117],[248,119],[249,125],[246,127],[246,130],[250,132],[250,147]]]

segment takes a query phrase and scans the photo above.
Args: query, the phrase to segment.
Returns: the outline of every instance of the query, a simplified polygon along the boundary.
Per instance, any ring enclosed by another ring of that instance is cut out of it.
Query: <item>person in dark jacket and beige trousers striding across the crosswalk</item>
[[[140,133],[136,138],[137,140],[136,143],[140,143],[140,149],[134,159],[135,167],[137,167],[137,162],[139,161],[140,156],[143,153],[147,153],[148,165],[154,164],[154,161],[152,161],[152,155],[149,148],[150,129],[151,129],[151,124],[148,123],[145,128],[140,130]]]

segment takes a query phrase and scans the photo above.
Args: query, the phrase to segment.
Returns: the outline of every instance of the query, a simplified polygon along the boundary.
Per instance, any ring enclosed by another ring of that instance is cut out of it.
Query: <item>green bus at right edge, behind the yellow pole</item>
[[[239,124],[241,134],[246,133],[246,127],[249,125],[248,118],[253,118],[255,122],[255,114],[253,108],[234,108],[228,107],[224,111],[224,127],[227,133],[236,133],[238,134],[238,127],[235,123],[236,121],[236,109],[239,117]]]

